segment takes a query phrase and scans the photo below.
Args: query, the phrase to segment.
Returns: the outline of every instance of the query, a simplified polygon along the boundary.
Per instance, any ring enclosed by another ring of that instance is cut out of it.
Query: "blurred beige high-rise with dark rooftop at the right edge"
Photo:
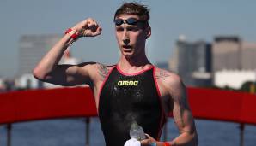
[[[256,69],[256,43],[241,38],[216,37],[212,45],[213,71]]]

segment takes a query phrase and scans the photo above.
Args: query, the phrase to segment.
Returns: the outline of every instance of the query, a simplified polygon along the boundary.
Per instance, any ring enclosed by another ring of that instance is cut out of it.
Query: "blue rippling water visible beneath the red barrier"
[[[238,146],[239,125],[235,123],[196,120],[199,146]],[[12,125],[12,146],[84,146],[84,119],[40,120]],[[104,146],[98,118],[92,118],[89,143]],[[172,119],[168,120],[168,139],[178,135]],[[256,126],[246,126],[245,146],[256,145]],[[0,126],[0,145],[6,145],[6,126]]]

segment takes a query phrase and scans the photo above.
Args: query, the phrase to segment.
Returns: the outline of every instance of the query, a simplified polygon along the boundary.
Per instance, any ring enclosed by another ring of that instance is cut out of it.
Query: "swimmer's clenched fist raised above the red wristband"
[[[101,34],[102,28],[94,19],[88,18],[77,23],[72,30],[78,32],[78,37],[95,37]]]

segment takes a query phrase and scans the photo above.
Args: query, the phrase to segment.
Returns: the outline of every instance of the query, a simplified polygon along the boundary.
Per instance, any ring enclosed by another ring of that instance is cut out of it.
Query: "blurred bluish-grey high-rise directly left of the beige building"
[[[176,53],[170,66],[176,66],[174,68],[184,83],[188,86],[212,85],[211,45],[204,41],[187,42],[181,39],[177,41],[175,48]]]

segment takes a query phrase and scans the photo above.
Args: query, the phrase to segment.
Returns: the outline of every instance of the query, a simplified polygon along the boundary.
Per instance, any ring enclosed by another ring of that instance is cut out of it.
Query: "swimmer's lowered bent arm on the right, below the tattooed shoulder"
[[[196,146],[198,145],[198,135],[192,112],[187,102],[186,87],[180,77],[175,74],[171,75],[168,83],[168,91],[174,102],[174,122],[180,131],[180,135],[169,143],[172,146]]]

